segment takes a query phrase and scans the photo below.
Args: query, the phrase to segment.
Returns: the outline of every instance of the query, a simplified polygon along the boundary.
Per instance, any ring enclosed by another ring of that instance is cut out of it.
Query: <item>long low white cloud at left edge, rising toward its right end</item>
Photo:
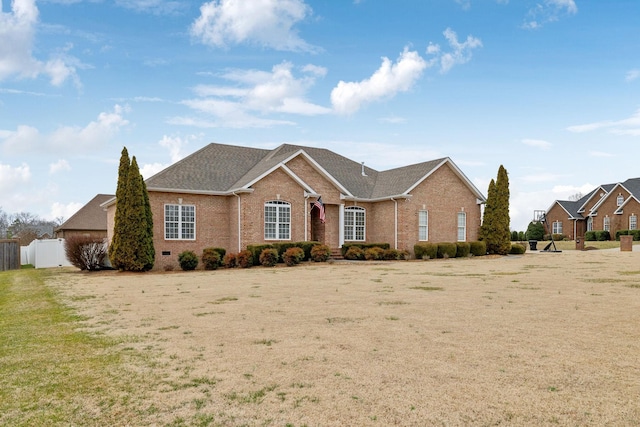
[[[0,147],[6,153],[24,153],[29,151],[59,152],[59,150],[90,151],[100,148],[111,141],[118,131],[129,122],[124,118],[127,107],[114,106],[112,112],[103,112],[96,121],[85,127],[61,127],[49,135],[41,134],[38,129],[20,125],[14,132],[0,135]]]

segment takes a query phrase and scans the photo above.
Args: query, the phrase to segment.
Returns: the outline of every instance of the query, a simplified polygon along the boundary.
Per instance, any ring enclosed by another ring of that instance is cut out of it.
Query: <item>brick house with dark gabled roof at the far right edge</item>
[[[546,212],[548,232],[570,240],[586,231],[607,230],[615,239],[619,230],[638,228],[640,178],[600,185],[577,201],[556,200]]]

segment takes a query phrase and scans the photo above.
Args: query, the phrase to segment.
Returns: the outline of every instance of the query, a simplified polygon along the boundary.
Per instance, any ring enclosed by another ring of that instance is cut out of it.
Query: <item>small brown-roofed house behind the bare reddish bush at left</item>
[[[71,218],[54,230],[55,237],[68,238],[70,236],[107,237],[107,210],[102,204],[112,200],[113,194],[98,194],[84,205]]]

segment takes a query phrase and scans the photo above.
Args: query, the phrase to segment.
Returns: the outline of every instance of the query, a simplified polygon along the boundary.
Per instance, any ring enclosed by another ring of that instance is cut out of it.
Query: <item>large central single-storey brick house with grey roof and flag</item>
[[[485,197],[449,158],[378,172],[332,151],[209,144],[146,180],[155,268],[218,246],[314,240],[385,242],[478,238]],[[321,197],[325,222],[314,207]],[[115,204],[108,207],[109,240]]]

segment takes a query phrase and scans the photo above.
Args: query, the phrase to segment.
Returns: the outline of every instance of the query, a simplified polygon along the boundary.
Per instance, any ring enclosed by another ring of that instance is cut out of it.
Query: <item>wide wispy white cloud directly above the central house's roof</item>
[[[213,116],[213,121],[196,118],[174,118],[172,123],[204,127],[267,127],[293,124],[290,121],[270,120],[255,114],[297,114],[315,116],[331,110],[306,100],[308,90],[316,78],[323,75],[322,67],[306,65],[303,75],[294,76],[289,62],[274,66],[271,72],[260,70],[232,70],[222,77],[231,86],[200,85],[194,88],[198,98],[182,101],[193,110]]]

